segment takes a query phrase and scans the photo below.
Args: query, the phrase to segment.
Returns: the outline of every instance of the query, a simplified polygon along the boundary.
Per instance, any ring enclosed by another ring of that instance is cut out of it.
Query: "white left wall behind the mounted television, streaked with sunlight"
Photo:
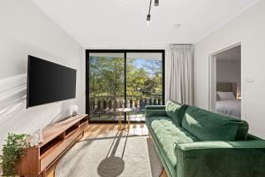
[[[70,115],[71,104],[85,112],[83,51],[30,1],[0,1],[0,147],[8,132],[31,134]],[[27,55],[77,69],[76,99],[26,109]]]

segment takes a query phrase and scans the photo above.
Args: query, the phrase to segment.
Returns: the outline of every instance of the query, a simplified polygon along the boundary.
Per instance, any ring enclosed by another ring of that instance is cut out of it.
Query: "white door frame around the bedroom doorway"
[[[242,89],[242,43],[237,42],[228,47],[223,48],[222,50],[217,50],[216,52],[209,55],[208,58],[208,110],[215,112],[215,104],[216,104],[216,55],[225,51],[230,50],[234,47],[241,46],[241,89]],[[241,110],[242,110],[242,101],[241,101]],[[241,112],[242,113],[242,112]],[[242,115],[241,115],[242,117]]]

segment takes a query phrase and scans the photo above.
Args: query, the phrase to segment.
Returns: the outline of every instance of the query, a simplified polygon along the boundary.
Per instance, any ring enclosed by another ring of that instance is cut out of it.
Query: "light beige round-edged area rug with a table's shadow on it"
[[[112,132],[75,144],[57,164],[56,177],[159,177],[163,165],[147,135]]]

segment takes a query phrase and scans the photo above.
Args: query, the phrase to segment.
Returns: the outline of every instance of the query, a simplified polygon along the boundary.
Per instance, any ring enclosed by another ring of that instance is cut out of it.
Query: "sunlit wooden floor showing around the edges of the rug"
[[[80,140],[84,140],[87,137],[95,138],[98,135],[108,135],[110,131],[117,131],[117,124],[90,124],[87,127],[84,137]],[[133,135],[148,135],[148,127],[145,124],[131,124],[130,132]],[[47,177],[54,177],[56,165],[53,165],[47,171]],[[160,177],[167,177],[163,171]]]

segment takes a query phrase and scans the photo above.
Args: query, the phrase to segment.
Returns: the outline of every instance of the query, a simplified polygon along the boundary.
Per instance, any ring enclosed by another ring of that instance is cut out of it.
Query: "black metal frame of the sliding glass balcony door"
[[[125,56],[125,73],[126,73],[126,53],[162,53],[162,79],[163,79],[163,93],[162,103],[165,104],[165,50],[86,50],[86,113],[89,115],[88,106],[89,103],[89,53],[124,53]],[[88,94],[87,94],[88,93]],[[126,100],[126,74],[125,74],[125,100]],[[125,104],[126,107],[126,104]],[[88,116],[89,119],[89,116]],[[126,114],[123,123],[126,123]],[[132,123],[145,123],[145,121],[131,121]],[[89,120],[89,123],[117,123],[117,120]]]

